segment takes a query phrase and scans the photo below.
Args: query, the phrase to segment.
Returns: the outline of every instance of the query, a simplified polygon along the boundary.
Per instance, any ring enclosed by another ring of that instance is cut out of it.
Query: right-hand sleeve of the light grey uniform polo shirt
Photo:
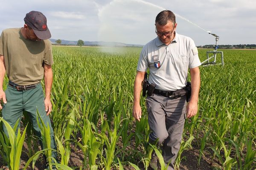
[[[198,49],[195,46],[195,42],[191,40],[189,51],[189,68],[195,68],[201,65],[200,59],[198,57]]]

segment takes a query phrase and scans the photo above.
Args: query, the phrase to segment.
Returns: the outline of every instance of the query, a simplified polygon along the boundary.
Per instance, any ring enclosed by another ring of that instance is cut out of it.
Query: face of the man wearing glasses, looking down
[[[167,45],[171,43],[175,36],[174,32],[176,30],[177,23],[175,24],[175,26],[173,26],[173,23],[169,21],[164,26],[161,26],[158,23],[155,23],[155,26],[157,36],[160,38],[160,40]]]

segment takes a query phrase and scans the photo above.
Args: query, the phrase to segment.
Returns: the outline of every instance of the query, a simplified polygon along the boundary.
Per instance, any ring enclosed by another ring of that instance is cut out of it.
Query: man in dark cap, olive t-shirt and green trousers
[[[47,28],[47,19],[41,12],[30,11],[24,21],[24,27],[5,29],[0,36],[0,100],[3,100],[0,109],[3,119],[12,127],[26,111],[36,135],[41,138],[37,123],[38,110],[44,124],[49,124],[51,147],[56,150],[49,119],[52,111],[50,94],[53,57],[51,42],[47,39],[51,34]],[[5,73],[9,83],[6,91],[3,91]],[[43,78],[45,96],[41,86]],[[8,134],[4,125],[3,130]],[[52,156],[57,159],[56,152],[52,152]]]

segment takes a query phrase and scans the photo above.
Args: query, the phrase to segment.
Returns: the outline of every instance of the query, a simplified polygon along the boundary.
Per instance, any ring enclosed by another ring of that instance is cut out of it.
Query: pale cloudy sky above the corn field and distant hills
[[[160,11],[176,15],[177,33],[196,45],[256,44],[256,0],[0,0],[0,32],[23,27],[29,11],[47,17],[52,39],[122,42],[153,40]]]

